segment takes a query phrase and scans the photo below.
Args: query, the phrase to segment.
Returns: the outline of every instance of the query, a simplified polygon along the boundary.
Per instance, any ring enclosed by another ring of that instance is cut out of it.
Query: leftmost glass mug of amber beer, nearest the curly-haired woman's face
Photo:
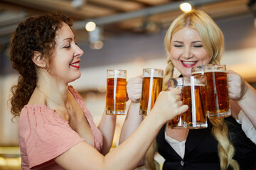
[[[106,109],[107,115],[125,115],[126,70],[107,70]]]

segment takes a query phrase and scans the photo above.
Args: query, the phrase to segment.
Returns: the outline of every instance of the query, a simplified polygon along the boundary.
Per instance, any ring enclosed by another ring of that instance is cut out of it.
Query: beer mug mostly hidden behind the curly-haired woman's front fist
[[[169,79],[168,81],[168,90],[178,88],[181,89],[183,88],[183,78],[182,77],[176,77]],[[172,120],[167,121],[167,127],[168,128],[183,128],[183,114],[178,115]]]

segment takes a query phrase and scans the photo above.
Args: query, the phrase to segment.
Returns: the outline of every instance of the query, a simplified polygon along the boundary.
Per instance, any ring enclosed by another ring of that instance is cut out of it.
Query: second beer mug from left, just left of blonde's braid
[[[143,69],[140,115],[147,115],[153,108],[156,98],[162,89],[163,75],[164,70],[161,69]]]

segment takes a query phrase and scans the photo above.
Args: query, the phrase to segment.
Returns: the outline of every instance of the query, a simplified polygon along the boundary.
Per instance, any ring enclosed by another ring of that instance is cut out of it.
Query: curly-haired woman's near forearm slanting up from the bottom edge
[[[159,120],[156,115],[147,115],[141,125],[127,140],[106,155],[105,162],[109,163],[109,167],[116,166],[117,169],[127,169],[132,164],[133,169],[135,169],[144,157],[147,149],[149,149],[151,142],[154,141],[162,125],[164,125],[164,121]],[[118,166],[117,162],[114,161],[115,159],[120,160]],[[123,159],[126,159],[126,162],[122,162]]]

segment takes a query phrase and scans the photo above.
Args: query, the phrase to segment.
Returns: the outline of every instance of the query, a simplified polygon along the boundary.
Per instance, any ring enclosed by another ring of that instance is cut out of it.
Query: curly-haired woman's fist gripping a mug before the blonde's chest
[[[175,88],[170,91],[161,91],[150,113],[163,115],[163,121],[167,121],[187,110],[188,106],[183,105],[182,102],[181,89]]]

